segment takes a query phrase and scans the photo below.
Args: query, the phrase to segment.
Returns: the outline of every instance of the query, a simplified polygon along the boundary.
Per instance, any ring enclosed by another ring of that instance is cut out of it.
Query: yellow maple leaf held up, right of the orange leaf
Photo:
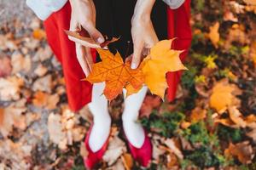
[[[159,95],[162,99],[168,87],[166,72],[188,70],[179,59],[183,51],[171,49],[172,41],[173,39],[157,42],[142,63],[146,85],[152,94]]]

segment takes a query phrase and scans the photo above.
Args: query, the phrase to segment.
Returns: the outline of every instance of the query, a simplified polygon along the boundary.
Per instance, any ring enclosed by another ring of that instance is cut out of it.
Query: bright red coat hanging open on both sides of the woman
[[[92,86],[89,82],[80,81],[84,78],[84,72],[76,58],[74,42],[69,41],[64,32],[64,30],[69,29],[70,17],[71,7],[67,3],[61,10],[51,14],[47,20],[44,20],[44,28],[49,46],[63,67],[69,107],[73,111],[79,111],[84,105],[90,103]],[[172,44],[172,48],[187,49],[187,51],[181,54],[182,60],[188,54],[192,37],[189,17],[190,0],[186,0],[180,8],[167,9],[168,37],[177,37],[177,40]],[[92,50],[92,53],[94,58],[96,58],[96,51]],[[182,71],[167,73],[169,85],[167,98],[170,101],[175,99],[177,84],[180,81],[181,75]]]

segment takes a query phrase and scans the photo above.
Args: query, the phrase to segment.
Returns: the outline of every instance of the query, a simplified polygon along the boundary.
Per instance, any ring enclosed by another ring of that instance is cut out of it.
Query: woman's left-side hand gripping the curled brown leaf
[[[104,42],[102,33],[96,30],[96,8],[92,0],[70,0],[72,14],[70,20],[70,31],[85,30],[96,42]],[[70,40],[75,41],[73,37]],[[91,71],[93,59],[90,54],[90,48],[84,47],[76,42],[76,54],[85,76]]]

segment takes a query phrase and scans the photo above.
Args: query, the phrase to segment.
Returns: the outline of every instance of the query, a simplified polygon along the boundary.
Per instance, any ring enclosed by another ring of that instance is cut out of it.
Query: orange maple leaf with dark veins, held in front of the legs
[[[124,63],[119,52],[112,54],[109,50],[101,48],[96,48],[96,50],[102,61],[92,65],[89,77],[84,80],[91,83],[106,82],[103,94],[108,100],[121,94],[127,82],[135,89],[143,86],[144,75],[141,67],[131,69],[131,62]]]

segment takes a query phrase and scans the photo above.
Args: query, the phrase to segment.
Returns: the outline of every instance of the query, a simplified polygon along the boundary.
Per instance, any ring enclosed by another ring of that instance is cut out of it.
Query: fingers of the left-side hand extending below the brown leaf
[[[87,64],[87,61],[85,60],[85,50],[84,47],[78,43],[76,43],[76,53],[77,53],[77,58],[79,60],[79,65],[82,67],[82,70],[84,71],[84,74],[86,77],[89,76],[90,74],[90,68]]]

